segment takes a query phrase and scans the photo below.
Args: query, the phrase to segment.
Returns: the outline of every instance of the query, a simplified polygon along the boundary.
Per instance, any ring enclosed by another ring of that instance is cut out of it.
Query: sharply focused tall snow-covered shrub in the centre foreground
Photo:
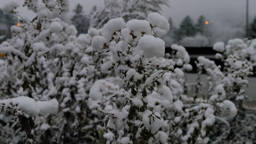
[[[165,49],[164,41],[156,36],[166,34],[168,27],[168,21],[157,13],[150,13],[148,22],[130,20],[127,25],[124,19],[115,18],[104,25],[102,36],[92,39],[96,50],[112,55],[112,60],[102,64],[102,72],[119,73],[125,82],[120,88],[99,80],[90,89],[90,109],[106,114],[107,143],[167,142],[167,135],[159,129],[164,124],[162,111],[173,99],[165,86],[166,74],[173,66],[152,65]]]

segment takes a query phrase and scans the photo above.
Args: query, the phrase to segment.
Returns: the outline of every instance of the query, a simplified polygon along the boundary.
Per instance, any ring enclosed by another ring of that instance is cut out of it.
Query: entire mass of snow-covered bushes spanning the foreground
[[[143,7],[146,1],[133,2]],[[148,6],[166,1],[156,2]],[[208,96],[200,100],[198,89],[191,100],[185,72],[192,66],[186,49],[174,44],[171,54],[162,58],[165,44],[160,37],[169,24],[156,12],[148,14],[159,8],[140,15],[136,7],[134,14],[147,20],[102,19],[102,25],[108,21],[102,29],[76,36],[74,26],[51,17],[56,11],[66,13],[68,0],[25,0],[24,6],[36,17],[19,18],[21,26],[12,26],[12,38],[0,44],[0,53],[6,54],[0,60],[0,143],[207,144],[255,139],[255,117],[244,118],[242,108],[254,41],[246,43],[246,55],[238,55],[239,50],[227,53],[232,55],[223,59],[225,72],[198,57],[198,75],[208,74]],[[11,2],[4,13],[18,15],[16,7]],[[236,47],[236,42],[230,45]],[[214,49],[226,52],[223,43]],[[204,85],[200,77],[196,84]],[[232,140],[234,133],[238,135]]]

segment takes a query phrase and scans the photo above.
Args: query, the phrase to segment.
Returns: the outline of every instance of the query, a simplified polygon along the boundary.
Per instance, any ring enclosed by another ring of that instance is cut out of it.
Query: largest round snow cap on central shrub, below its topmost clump
[[[142,36],[138,42],[138,48],[143,51],[146,58],[160,57],[165,52],[164,41],[151,35]]]

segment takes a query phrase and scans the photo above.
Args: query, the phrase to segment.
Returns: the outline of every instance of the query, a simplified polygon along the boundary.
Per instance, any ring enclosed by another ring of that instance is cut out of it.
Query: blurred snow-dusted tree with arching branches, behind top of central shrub
[[[102,28],[112,18],[145,20],[150,12],[162,10],[169,6],[168,0],[104,0],[104,8],[99,8],[91,15],[90,27]]]

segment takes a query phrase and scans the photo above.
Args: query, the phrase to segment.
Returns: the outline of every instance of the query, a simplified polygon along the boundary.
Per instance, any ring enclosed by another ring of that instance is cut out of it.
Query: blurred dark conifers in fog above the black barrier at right
[[[201,15],[198,17],[196,21],[194,21],[189,15],[186,16],[182,22],[178,26],[174,26],[174,22],[171,17],[168,19],[170,24],[170,31],[164,36],[164,41],[166,42],[166,46],[170,46],[171,44],[181,44],[183,46],[212,46],[216,41],[223,38],[217,38],[214,34],[217,34],[216,29],[221,31],[224,28],[214,28],[214,22],[211,22],[205,16]],[[206,24],[205,22],[209,23]],[[242,30],[241,30],[242,29]],[[237,28],[237,30],[230,30],[230,34],[224,34],[223,37],[245,37],[245,28]],[[221,34],[219,34],[221,35]],[[248,30],[248,38],[254,39],[256,38],[256,16],[250,22],[249,30]],[[171,40],[170,40],[171,39]],[[226,38],[227,40],[230,38]],[[225,40],[223,40],[225,41]]]

